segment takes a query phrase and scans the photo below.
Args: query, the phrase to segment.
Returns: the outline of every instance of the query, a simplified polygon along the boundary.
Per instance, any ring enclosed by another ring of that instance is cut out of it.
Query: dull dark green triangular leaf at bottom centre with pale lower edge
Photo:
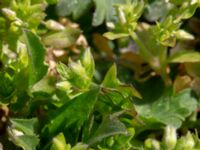
[[[126,126],[116,116],[106,116],[88,143],[92,145],[104,138],[118,134],[128,134]]]

